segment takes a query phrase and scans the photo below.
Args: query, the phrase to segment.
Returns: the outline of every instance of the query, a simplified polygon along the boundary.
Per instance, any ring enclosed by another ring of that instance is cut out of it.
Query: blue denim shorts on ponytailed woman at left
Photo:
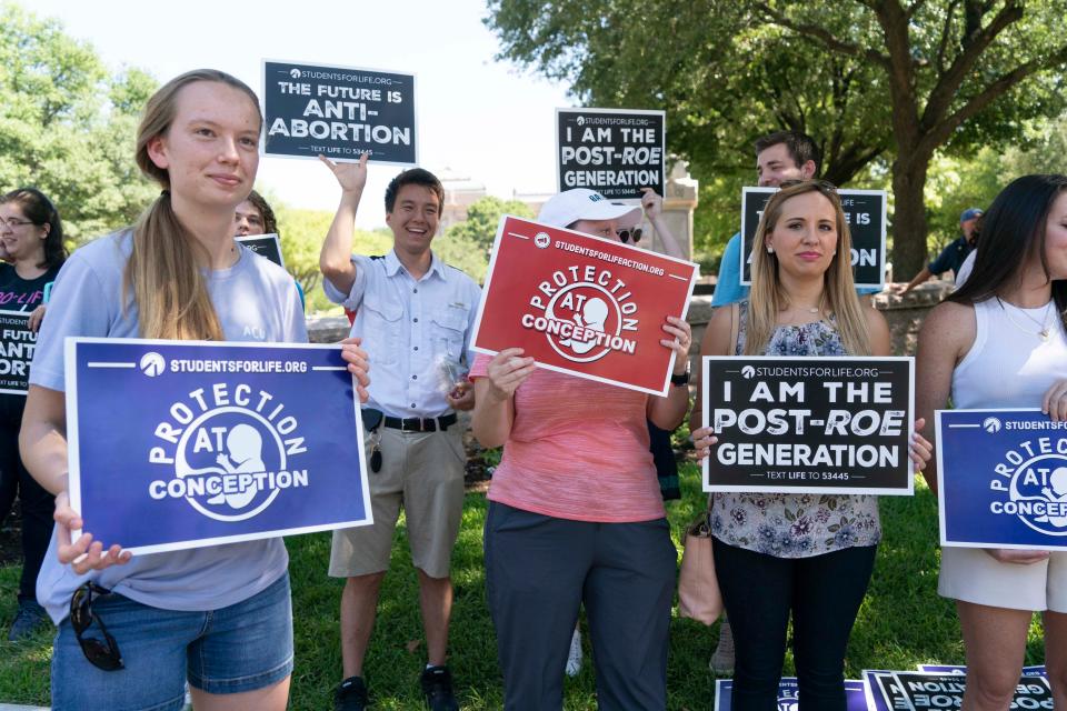
[[[271,687],[292,673],[292,608],[286,573],[248,600],[207,612],[161,610],[112,594],[92,603],[124,669],[86,660],[70,618],[56,634],[52,709],[178,711],[185,684],[208,693]],[[102,639],[93,624],[87,635]]]

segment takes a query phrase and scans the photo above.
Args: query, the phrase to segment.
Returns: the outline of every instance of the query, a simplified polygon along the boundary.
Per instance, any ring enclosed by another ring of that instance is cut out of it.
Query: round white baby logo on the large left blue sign
[[[153,480],[149,495],[185,499],[217,521],[243,521],[287,489],[307,487],[307,453],[296,417],[266,390],[218,383],[171,404],[154,429],[148,460],[170,478]]]

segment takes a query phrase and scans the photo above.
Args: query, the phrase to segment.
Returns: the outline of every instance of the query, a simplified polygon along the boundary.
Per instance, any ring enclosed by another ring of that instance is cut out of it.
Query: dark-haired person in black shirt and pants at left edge
[[[30,312],[40,327],[44,291],[67,259],[63,226],[56,207],[33,188],[0,197],[0,310]],[[22,578],[19,609],[8,639],[30,637],[47,622],[37,603],[37,575],[52,534],[53,497],[38,484],[19,457],[24,394],[0,393],[0,525],[18,495],[22,502]]]

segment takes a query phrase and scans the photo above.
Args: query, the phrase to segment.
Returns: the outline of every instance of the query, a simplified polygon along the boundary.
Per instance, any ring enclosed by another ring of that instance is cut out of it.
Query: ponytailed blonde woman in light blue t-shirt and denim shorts
[[[286,708],[292,621],[280,539],[131,559],[121,541],[91,532],[71,541],[82,522],[67,494],[66,337],[307,340],[292,279],[233,241],[261,123],[256,94],[229,74],[198,70],[166,83],[137,137],[137,163],[162,193],[133,228],[78,250],[57,281],[21,433],[27,468],[57,494],[38,581],[59,625],[57,711],[177,710],[187,679],[198,711]],[[346,350],[366,398],[365,353]]]

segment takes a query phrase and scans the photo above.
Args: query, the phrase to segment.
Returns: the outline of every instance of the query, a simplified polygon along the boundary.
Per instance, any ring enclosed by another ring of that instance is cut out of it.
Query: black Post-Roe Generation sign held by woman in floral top
[[[818,341],[809,342],[818,350]],[[913,493],[911,358],[706,357],[705,491]]]

